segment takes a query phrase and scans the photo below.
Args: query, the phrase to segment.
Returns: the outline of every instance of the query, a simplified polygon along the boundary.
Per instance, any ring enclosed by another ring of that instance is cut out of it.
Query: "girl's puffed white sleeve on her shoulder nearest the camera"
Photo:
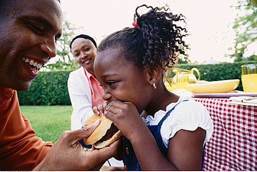
[[[161,127],[161,134],[166,146],[169,139],[179,130],[194,131],[198,127],[206,131],[204,143],[208,142],[213,134],[213,120],[207,109],[199,102],[189,100],[181,102],[167,117]]]

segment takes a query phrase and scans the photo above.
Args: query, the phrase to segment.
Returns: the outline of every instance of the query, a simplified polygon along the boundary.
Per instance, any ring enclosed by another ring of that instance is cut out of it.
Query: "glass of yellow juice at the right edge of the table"
[[[257,64],[245,64],[242,69],[242,85],[245,92],[257,92]]]

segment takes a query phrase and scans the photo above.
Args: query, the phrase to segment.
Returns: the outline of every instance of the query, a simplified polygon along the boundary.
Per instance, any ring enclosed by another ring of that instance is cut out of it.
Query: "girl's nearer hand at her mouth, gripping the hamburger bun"
[[[147,128],[136,106],[132,102],[118,100],[109,103],[105,116],[112,120],[121,133],[130,141],[140,137]]]

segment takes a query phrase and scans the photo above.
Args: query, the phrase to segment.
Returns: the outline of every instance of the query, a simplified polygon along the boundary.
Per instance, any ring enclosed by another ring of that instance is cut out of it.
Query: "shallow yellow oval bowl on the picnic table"
[[[186,88],[194,94],[201,93],[223,93],[236,89],[240,80],[212,81],[204,84],[188,84]]]

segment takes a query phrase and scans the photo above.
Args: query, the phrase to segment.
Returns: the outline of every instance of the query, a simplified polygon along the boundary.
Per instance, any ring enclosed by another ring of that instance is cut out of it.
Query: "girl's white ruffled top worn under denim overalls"
[[[179,130],[194,131],[198,127],[206,131],[204,143],[208,142],[214,130],[213,120],[207,109],[201,103],[194,101],[191,97],[182,96],[179,98],[178,102],[169,104],[166,107],[166,111],[160,110],[154,114],[154,117],[148,115],[146,119],[144,117],[142,117],[142,119],[147,125],[157,125],[167,112],[178,103],[180,104],[175,107],[161,127],[161,136],[166,147],[168,147],[169,139]]]

